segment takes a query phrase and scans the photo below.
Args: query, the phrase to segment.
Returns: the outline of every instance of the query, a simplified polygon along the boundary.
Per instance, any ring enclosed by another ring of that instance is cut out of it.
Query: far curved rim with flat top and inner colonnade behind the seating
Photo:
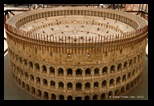
[[[10,18],[7,23],[13,27],[20,27],[20,25],[45,17],[53,16],[65,16],[65,15],[87,15],[87,16],[96,16],[96,17],[105,17],[110,19],[115,19],[121,22],[124,22],[135,29],[139,29],[147,25],[147,21],[143,18],[132,15],[122,11],[109,10],[109,9],[99,9],[99,8],[83,8],[83,7],[61,7],[61,8],[52,8],[52,9],[41,9],[41,10],[32,10],[25,13],[17,14],[14,17]],[[27,19],[26,19],[27,18]],[[20,25],[18,25],[20,24]]]

